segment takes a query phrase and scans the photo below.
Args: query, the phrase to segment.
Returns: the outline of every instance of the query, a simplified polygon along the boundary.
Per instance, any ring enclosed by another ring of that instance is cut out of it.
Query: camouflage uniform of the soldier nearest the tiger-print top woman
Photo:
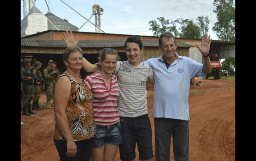
[[[54,83],[56,82],[56,79],[59,77],[58,73],[57,74],[50,74],[50,73],[52,73],[52,70],[51,70],[51,67],[48,66],[44,70],[45,80],[47,81],[47,83],[51,84],[51,86],[47,87],[47,93],[46,93],[48,104],[52,100]]]

